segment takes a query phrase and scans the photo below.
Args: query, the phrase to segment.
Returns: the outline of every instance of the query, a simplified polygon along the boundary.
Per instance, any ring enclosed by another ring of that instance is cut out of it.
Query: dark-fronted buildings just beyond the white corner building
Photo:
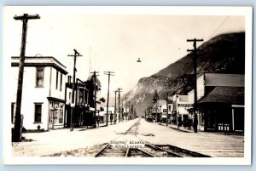
[[[96,80],[96,81],[95,81]],[[102,108],[101,102],[101,83],[96,77],[89,77],[87,81],[82,81],[79,78],[74,83],[74,103],[73,116],[72,109],[72,94],[73,83],[71,76],[68,76],[65,88],[65,127],[70,128],[71,117],[73,117],[73,127],[90,126],[96,128],[97,123],[100,123],[100,111]]]

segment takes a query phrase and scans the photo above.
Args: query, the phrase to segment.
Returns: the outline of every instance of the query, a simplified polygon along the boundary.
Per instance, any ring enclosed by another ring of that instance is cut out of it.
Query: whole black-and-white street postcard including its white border
[[[4,162],[250,165],[252,23],[252,7],[4,7]]]

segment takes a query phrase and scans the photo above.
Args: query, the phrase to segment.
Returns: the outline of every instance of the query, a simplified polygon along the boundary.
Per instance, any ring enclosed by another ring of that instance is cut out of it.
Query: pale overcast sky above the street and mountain
[[[102,96],[108,90],[108,76],[103,71],[115,72],[110,82],[113,96],[116,88],[127,92],[139,78],[186,55],[192,48],[187,38],[206,42],[220,33],[245,31],[245,18],[229,14],[84,14],[83,10],[70,13],[67,9],[18,7],[5,9],[4,57],[20,55],[22,23],[13,17],[24,13],[41,17],[28,21],[26,56],[54,56],[73,75],[73,58],[67,54],[76,48],[83,55],[77,60],[77,76],[87,80],[90,71],[99,71]]]

